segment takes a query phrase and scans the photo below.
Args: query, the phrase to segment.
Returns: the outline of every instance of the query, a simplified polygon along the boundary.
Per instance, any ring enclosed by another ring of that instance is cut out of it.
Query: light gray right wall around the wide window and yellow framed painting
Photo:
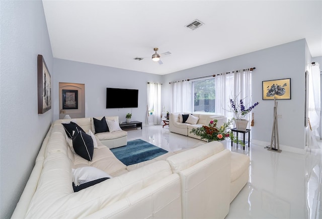
[[[291,78],[291,99],[278,100],[279,143],[298,149],[305,146],[304,139],[304,79],[306,41],[304,39],[256,52],[212,62],[206,65],[178,71],[164,76],[164,98],[170,100],[170,81],[230,72],[256,67],[253,71],[253,102],[260,104],[254,109],[255,126],[252,139],[270,142],[273,127],[273,100],[262,99],[262,81]],[[170,102],[165,102],[170,108]]]

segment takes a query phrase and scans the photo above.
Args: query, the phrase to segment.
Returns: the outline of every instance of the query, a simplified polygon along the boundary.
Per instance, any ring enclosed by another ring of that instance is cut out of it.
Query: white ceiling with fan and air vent
[[[168,74],[305,38],[322,56],[322,1],[53,1],[54,58]],[[198,19],[204,25],[186,28]],[[153,48],[159,65],[150,58]]]

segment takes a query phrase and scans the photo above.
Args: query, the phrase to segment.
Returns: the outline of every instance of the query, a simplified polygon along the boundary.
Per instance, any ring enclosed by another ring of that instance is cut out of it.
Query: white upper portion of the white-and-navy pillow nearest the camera
[[[90,182],[96,179],[109,177],[112,178],[109,174],[95,167],[80,167],[77,169],[72,169],[73,181],[74,184],[81,185],[86,182]]]

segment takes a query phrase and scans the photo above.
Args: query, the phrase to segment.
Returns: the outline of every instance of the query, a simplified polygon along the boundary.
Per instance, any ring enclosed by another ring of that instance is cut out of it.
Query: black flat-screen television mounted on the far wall
[[[138,106],[136,89],[106,88],[106,108],[134,108]]]

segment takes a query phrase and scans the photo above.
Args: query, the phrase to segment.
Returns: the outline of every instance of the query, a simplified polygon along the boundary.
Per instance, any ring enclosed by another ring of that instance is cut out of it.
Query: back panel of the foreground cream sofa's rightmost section
[[[224,218],[230,204],[230,151],[179,172],[183,218]]]

